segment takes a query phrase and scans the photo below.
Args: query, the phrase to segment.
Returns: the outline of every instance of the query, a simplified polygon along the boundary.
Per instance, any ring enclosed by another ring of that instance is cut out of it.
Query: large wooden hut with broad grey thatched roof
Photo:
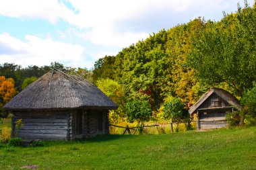
[[[108,110],[118,106],[86,79],[53,69],[3,108],[13,114],[12,135],[22,119],[18,137],[72,140],[108,134]]]

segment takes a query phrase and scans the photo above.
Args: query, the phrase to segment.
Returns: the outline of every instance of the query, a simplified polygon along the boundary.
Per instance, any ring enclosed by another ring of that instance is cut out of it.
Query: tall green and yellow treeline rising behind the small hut
[[[173,97],[189,109],[210,87],[243,100],[256,81],[255,26],[256,5],[245,1],[220,22],[199,17],[100,58],[93,81],[105,93],[118,86],[115,102],[148,101],[156,114]]]

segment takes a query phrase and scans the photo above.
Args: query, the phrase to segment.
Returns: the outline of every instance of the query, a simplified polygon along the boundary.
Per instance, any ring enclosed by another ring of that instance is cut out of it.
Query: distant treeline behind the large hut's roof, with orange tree
[[[26,88],[30,83],[36,81],[45,73],[59,69],[71,75],[79,75],[92,81],[92,71],[82,68],[65,67],[59,62],[52,62],[49,66],[29,66],[22,68],[20,65],[13,63],[0,64],[0,120],[5,118],[8,113],[3,110],[3,105],[9,102],[22,89]],[[1,121],[0,121],[1,122]]]

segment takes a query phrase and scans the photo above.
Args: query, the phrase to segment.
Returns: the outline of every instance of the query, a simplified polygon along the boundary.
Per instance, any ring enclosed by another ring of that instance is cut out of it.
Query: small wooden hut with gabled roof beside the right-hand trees
[[[210,129],[227,126],[226,112],[241,110],[238,99],[224,89],[212,88],[190,108],[189,114],[197,114],[197,128]]]

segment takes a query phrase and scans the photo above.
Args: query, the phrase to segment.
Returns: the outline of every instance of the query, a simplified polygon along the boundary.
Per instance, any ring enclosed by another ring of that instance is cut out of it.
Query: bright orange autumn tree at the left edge
[[[5,79],[4,76],[0,77],[0,117],[5,117],[7,114],[3,110],[3,105],[8,103],[18,91],[14,87],[14,80],[12,78]]]

